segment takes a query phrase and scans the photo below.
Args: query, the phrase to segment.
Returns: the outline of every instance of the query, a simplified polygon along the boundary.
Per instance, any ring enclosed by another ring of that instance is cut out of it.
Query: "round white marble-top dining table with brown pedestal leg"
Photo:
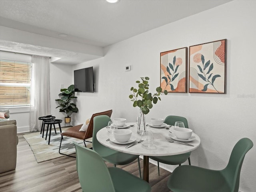
[[[193,141],[186,142],[192,144],[193,146],[188,146],[181,143],[170,143],[166,138],[174,138],[173,135],[173,128],[166,129],[166,126],[146,126],[146,131],[152,131],[154,137],[154,143],[150,147],[143,146],[142,143],[135,144],[129,148],[126,148],[130,143],[120,144],[115,142],[114,135],[108,133],[106,127],[100,129],[96,134],[97,140],[104,146],[108,148],[128,153],[128,154],[135,154],[135,155],[142,155],[143,156],[143,179],[148,182],[149,180],[149,157],[150,156],[169,156],[169,155],[176,155],[176,154],[183,154],[186,152],[190,152],[195,150],[200,145],[200,138],[196,133],[192,133]],[[140,141],[141,135],[137,133],[137,124],[136,123],[126,123],[124,129],[129,129],[132,131],[132,141],[136,139],[136,141]],[[169,126],[168,126],[169,127]],[[172,132],[172,133],[170,133]],[[109,140],[110,139],[110,140]],[[113,142],[114,141],[114,142]],[[134,141],[135,142],[135,141]]]

